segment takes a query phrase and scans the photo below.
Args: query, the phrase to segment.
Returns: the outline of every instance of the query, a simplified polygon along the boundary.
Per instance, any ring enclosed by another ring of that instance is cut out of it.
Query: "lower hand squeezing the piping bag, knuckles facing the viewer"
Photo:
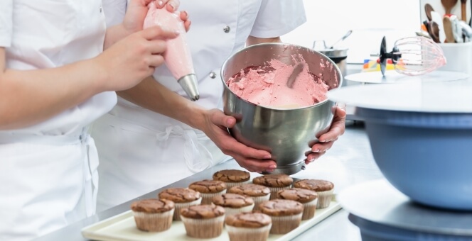
[[[159,26],[146,28],[118,41],[93,61],[97,74],[104,74],[104,91],[129,89],[151,76],[163,64],[166,40],[176,38],[178,32]]]

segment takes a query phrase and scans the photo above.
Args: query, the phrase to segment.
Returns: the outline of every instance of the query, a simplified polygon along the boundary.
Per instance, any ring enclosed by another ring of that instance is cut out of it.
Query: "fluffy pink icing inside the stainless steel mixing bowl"
[[[257,105],[277,108],[312,106],[326,99],[328,85],[309,72],[304,60],[300,62],[304,69],[296,77],[293,88],[286,86],[286,82],[298,63],[285,65],[279,60],[271,60],[262,67],[242,69],[226,84],[237,96]]]

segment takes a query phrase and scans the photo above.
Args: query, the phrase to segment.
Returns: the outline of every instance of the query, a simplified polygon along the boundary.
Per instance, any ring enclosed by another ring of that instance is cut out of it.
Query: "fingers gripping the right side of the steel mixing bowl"
[[[345,130],[345,105],[338,104],[334,113],[333,122],[327,133],[320,135],[319,142],[311,146],[311,152],[306,153],[305,163],[310,164],[326,153],[326,151],[333,146],[333,143],[338,140],[340,135],[344,134]]]

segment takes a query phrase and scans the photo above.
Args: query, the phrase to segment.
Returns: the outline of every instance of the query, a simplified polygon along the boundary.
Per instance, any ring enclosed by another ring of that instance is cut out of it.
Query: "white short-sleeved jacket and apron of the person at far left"
[[[105,27],[101,1],[0,1],[10,69],[95,57]],[[98,156],[86,126],[116,101],[104,92],[42,123],[0,131],[0,240],[29,240],[95,213]]]

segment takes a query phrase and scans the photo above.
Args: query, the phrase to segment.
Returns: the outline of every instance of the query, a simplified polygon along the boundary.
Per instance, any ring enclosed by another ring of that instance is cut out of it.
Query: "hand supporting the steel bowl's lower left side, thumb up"
[[[223,153],[235,158],[241,167],[250,172],[273,172],[277,163],[270,159],[270,152],[248,147],[228,133],[227,128],[232,128],[235,124],[234,117],[226,116],[222,111],[213,109],[205,111],[205,123],[200,130],[203,130]]]

